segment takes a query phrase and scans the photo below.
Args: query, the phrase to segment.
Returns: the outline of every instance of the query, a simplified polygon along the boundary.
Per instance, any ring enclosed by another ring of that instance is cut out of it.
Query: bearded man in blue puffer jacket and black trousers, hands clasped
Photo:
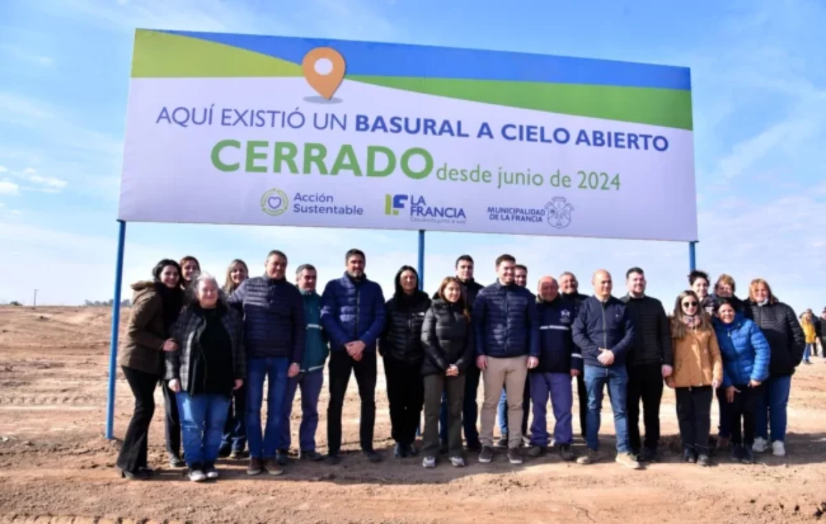
[[[373,450],[376,422],[376,340],[384,328],[382,287],[364,274],[364,253],[350,249],[344,256],[344,276],[327,282],[321,295],[321,326],[330,336],[330,405],[327,447],[330,464],[341,461],[341,410],[350,372],[356,375],[361,398],[358,427],[362,453],[371,462],[382,457]]]

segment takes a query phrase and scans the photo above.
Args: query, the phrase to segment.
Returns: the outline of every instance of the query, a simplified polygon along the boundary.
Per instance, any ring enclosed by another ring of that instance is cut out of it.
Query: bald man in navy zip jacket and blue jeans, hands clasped
[[[585,362],[585,387],[588,391],[586,456],[579,464],[591,464],[598,458],[600,411],[605,385],[614,412],[617,435],[617,462],[633,470],[640,469],[631,453],[628,435],[628,371],[625,356],[634,341],[634,324],[625,304],[611,296],[613,283],[608,271],[601,269],[592,279],[594,296],[582,303],[573,323],[573,342],[582,350]]]

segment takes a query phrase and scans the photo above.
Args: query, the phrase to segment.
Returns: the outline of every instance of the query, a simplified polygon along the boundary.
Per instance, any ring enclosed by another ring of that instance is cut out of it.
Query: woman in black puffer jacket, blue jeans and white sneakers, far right
[[[766,336],[771,348],[769,379],[766,394],[757,402],[754,415],[755,435],[753,450],[768,451],[771,426],[771,451],[775,456],[786,456],[786,406],[789,403],[791,375],[800,366],[805,349],[805,337],[797,315],[771,293],[768,282],[762,278],[752,281],[748,288],[746,317]]]

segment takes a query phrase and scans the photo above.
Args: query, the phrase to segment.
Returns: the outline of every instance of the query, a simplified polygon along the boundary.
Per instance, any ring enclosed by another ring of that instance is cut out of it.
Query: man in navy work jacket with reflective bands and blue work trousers
[[[571,326],[577,318],[577,304],[559,295],[553,276],[539,279],[537,319],[539,358],[528,359],[530,396],[534,403],[534,423],[530,427],[529,456],[543,456],[548,450],[548,394],[553,405],[554,440],[563,460],[573,460],[571,378],[582,373],[582,353],[573,343]]]

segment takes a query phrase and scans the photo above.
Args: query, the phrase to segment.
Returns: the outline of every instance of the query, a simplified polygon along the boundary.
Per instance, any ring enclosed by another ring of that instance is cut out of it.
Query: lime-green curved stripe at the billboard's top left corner
[[[132,78],[302,77],[301,66],[267,54],[159,31],[135,31]]]

